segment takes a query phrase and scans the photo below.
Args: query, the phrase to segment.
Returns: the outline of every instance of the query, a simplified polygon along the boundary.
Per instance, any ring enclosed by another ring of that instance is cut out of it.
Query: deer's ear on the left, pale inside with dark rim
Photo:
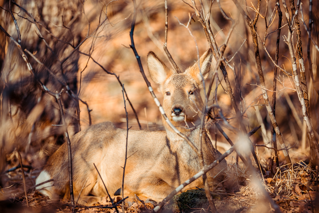
[[[172,70],[152,51],[147,54],[147,67],[152,80],[160,85],[173,74]]]

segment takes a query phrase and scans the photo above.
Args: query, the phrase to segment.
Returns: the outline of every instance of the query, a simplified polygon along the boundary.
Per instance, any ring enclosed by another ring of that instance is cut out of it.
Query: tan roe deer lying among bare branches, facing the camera
[[[200,58],[204,79],[211,67],[212,51],[207,50]],[[199,129],[189,128],[200,123],[203,100],[200,95],[202,77],[198,63],[184,73],[176,73],[153,52],[147,56],[147,65],[152,80],[160,85],[164,96],[163,108],[167,117],[182,133],[199,146]],[[189,128],[185,128],[186,125]],[[164,199],[174,188],[201,170],[197,154],[189,144],[177,135],[163,120],[166,132],[129,130],[124,196],[134,198],[134,194],[155,201]],[[79,202],[91,205],[101,202],[107,193],[93,163],[113,194],[122,187],[125,159],[126,129],[116,128],[111,122],[88,127],[71,140],[73,162],[74,197],[80,195]],[[206,132],[202,137],[202,150],[205,165],[211,164],[221,154],[212,146]],[[51,198],[70,197],[68,151],[64,143],[49,159],[36,179],[36,184],[49,179],[51,182],[38,186],[42,194]],[[225,176],[226,161],[221,161],[207,173],[209,183],[218,184]],[[202,187],[203,180],[197,179],[183,190]],[[83,191],[81,192],[82,188]],[[81,193],[80,193],[81,192]],[[94,196],[88,196],[92,194]],[[82,202],[85,201],[85,202]]]

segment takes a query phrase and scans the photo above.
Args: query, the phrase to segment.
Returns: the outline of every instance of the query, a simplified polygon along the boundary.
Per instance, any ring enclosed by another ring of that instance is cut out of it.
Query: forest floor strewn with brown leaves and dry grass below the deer
[[[12,157],[12,163],[17,162]],[[13,164],[12,164],[13,165]],[[24,184],[20,168],[12,167],[6,171],[6,180],[10,187],[1,189],[0,192],[0,212],[71,212],[69,203],[61,200],[49,200],[34,190],[34,178],[36,171],[31,167],[25,168],[27,185],[27,198],[29,208],[26,204],[26,196],[23,190]],[[38,171],[37,171],[38,172]],[[266,175],[259,179],[263,183],[273,201],[279,205],[282,212],[318,212],[318,170],[311,169],[303,161],[295,163],[293,170],[287,170],[286,166],[279,167],[273,174],[266,171]],[[245,167],[233,164],[229,165],[227,178],[211,192],[218,212],[272,212],[270,204],[262,196],[260,189],[251,180],[249,171]],[[121,197],[116,197],[113,201],[119,202]],[[137,200],[136,200],[137,201]],[[158,203],[152,200],[141,202],[125,202],[125,212],[143,212],[152,210]],[[116,212],[111,206],[111,202],[103,207],[95,204],[95,208],[76,208],[77,212]],[[118,211],[122,212],[122,205],[117,205]],[[209,212],[209,204],[203,189],[188,190],[177,194],[168,202],[161,212],[189,213],[189,212]]]

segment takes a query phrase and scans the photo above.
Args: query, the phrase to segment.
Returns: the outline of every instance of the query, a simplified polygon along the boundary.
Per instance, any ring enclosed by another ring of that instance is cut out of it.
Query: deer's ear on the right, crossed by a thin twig
[[[208,77],[209,71],[211,70],[211,59],[213,57],[213,51],[209,48],[199,59],[200,71],[204,77],[204,80]],[[195,80],[202,82],[202,77],[198,68],[198,61],[191,67],[189,67],[186,72],[188,72]]]

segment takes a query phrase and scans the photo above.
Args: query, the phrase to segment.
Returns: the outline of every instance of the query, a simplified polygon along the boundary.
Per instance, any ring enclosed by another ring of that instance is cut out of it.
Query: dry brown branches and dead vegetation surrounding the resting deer
[[[250,136],[255,151],[248,147],[240,152],[247,165],[236,154],[227,158],[227,178],[212,192],[216,209],[318,212],[318,2],[218,0],[210,4],[168,1],[167,49],[181,70],[193,64],[207,47],[214,51],[212,75],[202,94],[209,96],[205,113],[211,116],[203,120],[203,126],[214,145],[216,139],[219,141],[216,144],[221,153],[231,146],[217,125],[234,143],[241,142],[241,134],[261,125]],[[309,4],[313,4],[312,11]],[[35,178],[47,157],[66,141],[64,126],[70,136],[105,120],[126,128],[121,92],[124,84],[125,98],[130,100],[126,103],[128,126],[163,129],[136,56],[128,49],[134,5],[129,0],[56,4],[0,1],[0,5],[0,210],[72,211],[69,201],[48,200],[34,190]],[[146,67],[148,51],[166,57],[162,44],[166,41],[164,0],[138,1],[136,9],[135,48]],[[17,19],[20,37],[10,11]],[[27,67],[21,51],[33,70]],[[165,62],[169,61],[167,58]],[[61,92],[63,108],[45,88]],[[155,87],[153,90],[160,97]],[[306,117],[307,122],[303,121]],[[277,132],[273,130],[275,123]],[[285,145],[277,146],[273,141],[276,134]],[[249,167],[250,161],[254,169]],[[162,211],[210,211],[212,204],[206,195],[202,189],[175,195]],[[119,202],[119,212],[121,200],[114,200]],[[73,211],[114,212],[108,201],[101,208],[78,205]],[[145,201],[145,205],[126,202],[124,208],[126,212],[141,212],[156,205],[152,201]]]

